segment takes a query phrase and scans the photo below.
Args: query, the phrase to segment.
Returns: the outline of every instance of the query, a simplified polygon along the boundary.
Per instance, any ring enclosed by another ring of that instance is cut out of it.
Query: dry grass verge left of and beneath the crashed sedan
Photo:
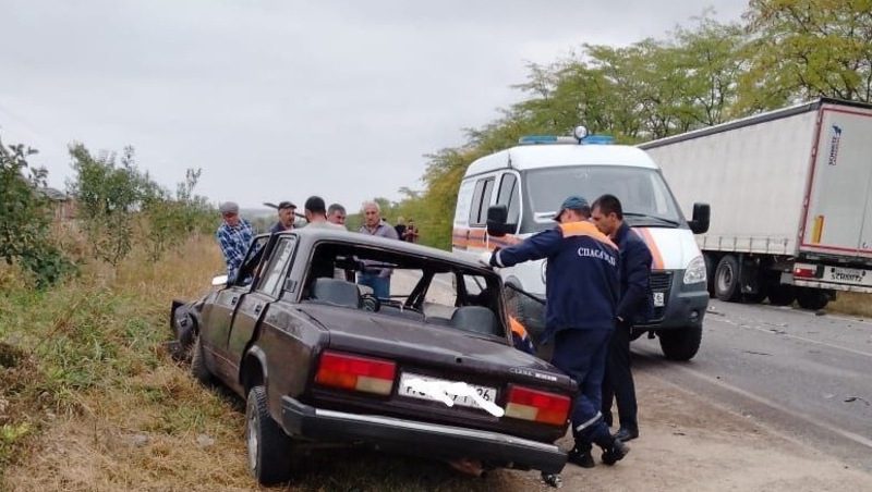
[[[19,354],[3,372],[12,380],[0,379],[11,402],[0,402],[0,425],[11,422],[0,428],[0,488],[257,490],[240,399],[196,384],[162,349],[171,300],[201,295],[221,268],[214,239],[198,237],[158,262],[137,253],[118,271],[88,266],[45,293],[0,272],[0,342]],[[537,487],[533,473],[471,479],[443,464],[354,450],[314,452],[298,466],[287,490]]]

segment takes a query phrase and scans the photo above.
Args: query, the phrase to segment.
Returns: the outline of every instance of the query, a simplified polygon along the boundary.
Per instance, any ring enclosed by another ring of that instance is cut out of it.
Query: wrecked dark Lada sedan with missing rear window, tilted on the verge
[[[389,298],[353,281],[382,269]],[[315,442],[557,473],[577,386],[512,347],[501,292],[450,253],[310,227],[256,237],[237,280],[171,320],[193,374],[247,399],[262,483]]]

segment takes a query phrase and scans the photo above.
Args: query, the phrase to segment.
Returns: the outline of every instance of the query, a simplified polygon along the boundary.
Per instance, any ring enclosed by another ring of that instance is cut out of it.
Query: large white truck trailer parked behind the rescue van
[[[821,309],[872,292],[872,104],[819,99],[663,138],[645,149],[697,235],[722,300]]]

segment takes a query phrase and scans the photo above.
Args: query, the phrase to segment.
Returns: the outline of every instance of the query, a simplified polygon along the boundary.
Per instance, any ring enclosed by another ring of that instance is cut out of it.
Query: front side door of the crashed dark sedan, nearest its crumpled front
[[[220,291],[208,309],[204,309],[199,336],[206,365],[213,372],[221,377],[231,373],[228,371],[227,340],[230,335],[233,315],[239,302],[252,290],[252,282],[268,239],[269,235],[261,235],[252,241],[233,284]]]

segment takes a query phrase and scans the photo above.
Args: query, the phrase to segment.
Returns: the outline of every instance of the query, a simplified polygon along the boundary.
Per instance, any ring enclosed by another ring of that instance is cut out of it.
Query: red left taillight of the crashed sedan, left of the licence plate
[[[325,386],[389,395],[396,373],[397,365],[390,360],[327,350],[320,355],[315,382]]]

